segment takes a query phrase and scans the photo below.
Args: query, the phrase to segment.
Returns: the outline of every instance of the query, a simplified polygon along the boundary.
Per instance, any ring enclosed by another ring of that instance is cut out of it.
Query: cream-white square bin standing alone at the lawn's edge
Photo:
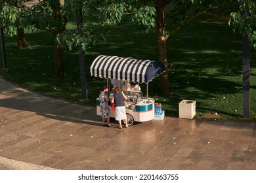
[[[179,103],[179,118],[192,119],[196,115],[196,101],[182,100]]]

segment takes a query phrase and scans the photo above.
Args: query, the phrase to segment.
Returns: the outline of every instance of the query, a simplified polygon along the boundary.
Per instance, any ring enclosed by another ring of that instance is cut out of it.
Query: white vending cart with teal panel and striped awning
[[[121,58],[117,56],[98,56],[92,63],[90,72],[92,76],[106,78],[108,87],[110,81],[116,80],[121,90],[127,95],[125,108],[128,125],[134,122],[145,122],[154,119],[155,100],[148,97],[148,82],[164,72],[164,65],[160,61],[142,60],[134,58]],[[121,84],[123,83],[124,84]],[[129,83],[146,83],[146,97],[138,91],[131,91]],[[133,93],[137,93],[135,95]],[[113,92],[110,92],[110,97]],[[111,118],[115,112],[111,111]],[[100,101],[96,99],[96,114],[101,116]]]

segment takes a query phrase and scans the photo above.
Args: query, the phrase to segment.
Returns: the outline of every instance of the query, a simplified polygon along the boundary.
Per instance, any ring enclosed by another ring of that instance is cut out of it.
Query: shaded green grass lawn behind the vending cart
[[[86,21],[86,20],[84,20]],[[75,25],[74,25],[75,26]],[[28,48],[16,49],[16,38],[5,37],[8,73],[0,75],[35,92],[60,99],[95,105],[104,78],[90,75],[89,67],[100,54],[158,59],[155,30],[149,33],[129,26],[107,26],[107,41],[86,52],[89,99],[81,99],[77,52],[64,52],[65,77],[53,78],[54,37],[45,31],[26,31]],[[1,56],[1,55],[0,55]],[[162,104],[165,115],[178,117],[182,99],[196,101],[195,118],[242,119],[242,37],[232,33],[227,16],[205,14],[190,22],[167,41],[169,81],[173,95],[162,97],[160,78],[148,84],[148,95]],[[3,65],[1,65],[1,68]],[[250,116],[256,117],[255,51],[250,58]],[[141,84],[146,93],[145,84]],[[217,115],[216,115],[217,114]]]

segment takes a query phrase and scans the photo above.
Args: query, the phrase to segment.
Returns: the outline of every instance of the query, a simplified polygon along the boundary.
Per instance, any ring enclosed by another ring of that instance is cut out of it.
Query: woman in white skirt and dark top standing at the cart
[[[127,100],[127,97],[123,92],[121,92],[121,89],[118,86],[114,89],[114,92],[115,93],[111,99],[111,103],[114,103],[115,105],[115,116],[116,120],[118,121],[119,128],[122,128],[121,120],[124,120],[125,127],[128,127],[124,102]]]

